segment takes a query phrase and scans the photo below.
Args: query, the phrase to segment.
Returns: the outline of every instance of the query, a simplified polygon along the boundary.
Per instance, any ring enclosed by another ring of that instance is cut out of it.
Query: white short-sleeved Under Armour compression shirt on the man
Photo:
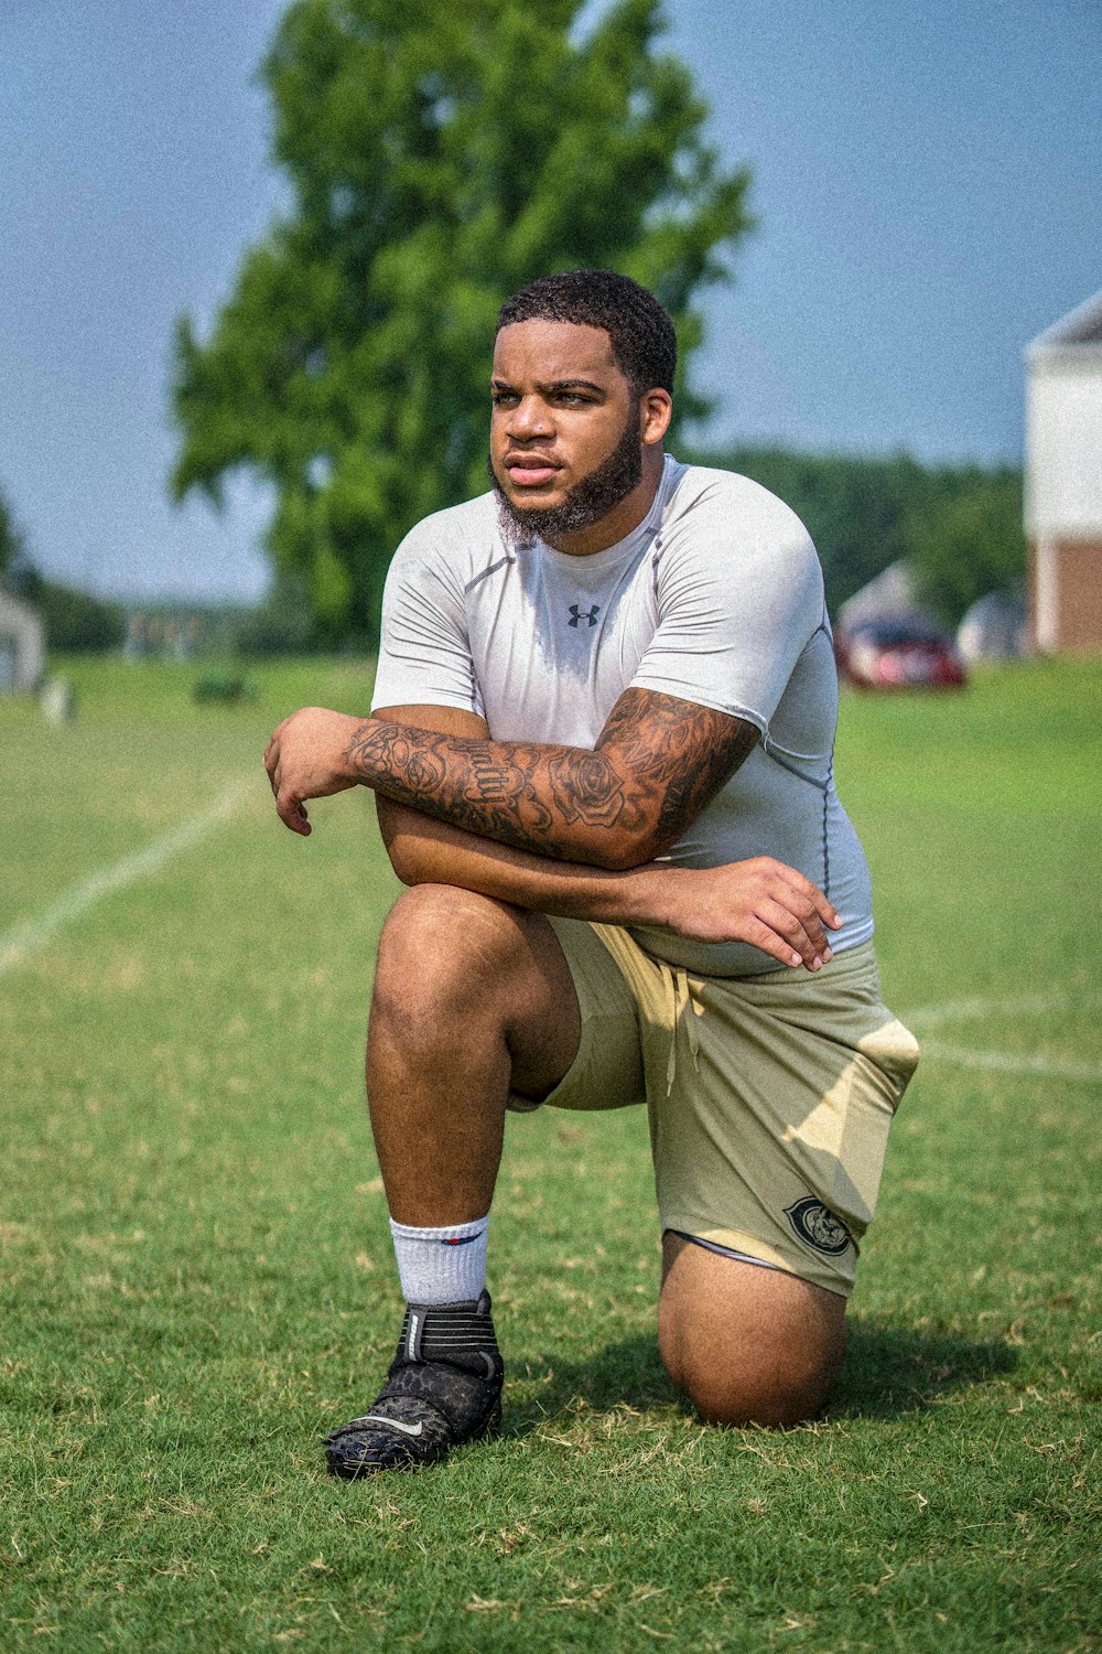
[[[654,504],[590,557],[519,551],[494,495],[425,518],[387,577],[373,706],[461,706],[501,741],[593,748],[629,686],[745,718],[762,739],[667,852],[686,867],[773,855],[872,935],[869,868],[833,779],[838,676],[823,572],[800,518],[730,471],[667,457]],[[710,976],[777,961],[748,943],[631,935]]]

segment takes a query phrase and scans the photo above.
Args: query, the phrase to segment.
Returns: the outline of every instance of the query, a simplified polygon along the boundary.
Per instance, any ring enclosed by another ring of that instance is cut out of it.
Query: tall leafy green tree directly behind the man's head
[[[294,0],[261,74],[291,208],[251,248],[210,337],[177,332],[172,486],[274,485],[268,549],[330,637],[378,629],[397,539],[486,488],[502,298],[616,268],[671,311],[727,275],[747,174],[702,139],[659,0]],[[684,375],[682,375],[684,377]],[[702,404],[681,389],[681,417]]]

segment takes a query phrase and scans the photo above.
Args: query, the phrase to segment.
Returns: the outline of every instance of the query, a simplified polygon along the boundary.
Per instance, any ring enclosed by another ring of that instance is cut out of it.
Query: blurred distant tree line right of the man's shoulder
[[[838,614],[867,581],[905,559],[924,604],[948,624],[985,592],[1019,595],[1026,572],[1021,471],[925,466],[909,455],[730,448],[702,463],[752,476],[803,518]]]

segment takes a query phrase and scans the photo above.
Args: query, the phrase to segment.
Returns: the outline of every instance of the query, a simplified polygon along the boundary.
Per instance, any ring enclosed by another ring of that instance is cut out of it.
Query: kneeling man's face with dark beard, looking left
[[[578,534],[639,485],[639,399],[603,327],[502,327],[491,389],[491,478],[519,544]]]

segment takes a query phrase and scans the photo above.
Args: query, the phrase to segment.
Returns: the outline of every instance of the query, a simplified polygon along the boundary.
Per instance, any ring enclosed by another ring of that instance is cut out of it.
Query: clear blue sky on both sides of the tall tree
[[[165,496],[172,327],[279,200],[254,69],[281,0],[3,0],[0,488],[40,567],[253,597],[266,501]],[[753,172],[707,301],[715,440],[1021,457],[1024,344],[1102,286],[1097,0],[667,0]]]

